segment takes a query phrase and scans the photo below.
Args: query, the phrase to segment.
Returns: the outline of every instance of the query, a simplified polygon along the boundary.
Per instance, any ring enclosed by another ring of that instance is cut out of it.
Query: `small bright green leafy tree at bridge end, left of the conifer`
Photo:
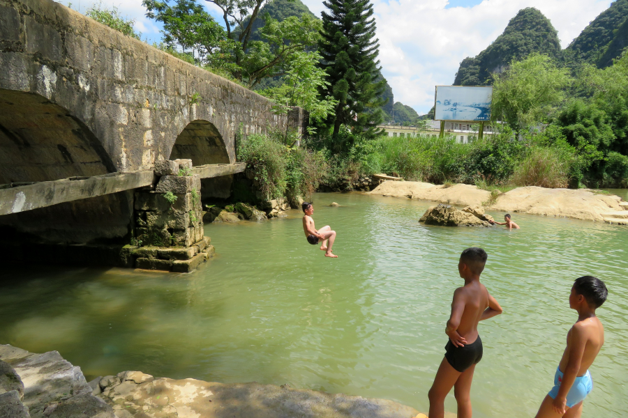
[[[334,111],[337,102],[331,96],[320,98],[319,91],[329,84],[325,80],[327,74],[318,65],[320,59],[317,52],[295,53],[283,77],[283,84],[259,93],[274,100],[278,114],[287,114],[298,106],[308,111],[313,121],[326,119]],[[313,130],[310,134],[313,134]]]

